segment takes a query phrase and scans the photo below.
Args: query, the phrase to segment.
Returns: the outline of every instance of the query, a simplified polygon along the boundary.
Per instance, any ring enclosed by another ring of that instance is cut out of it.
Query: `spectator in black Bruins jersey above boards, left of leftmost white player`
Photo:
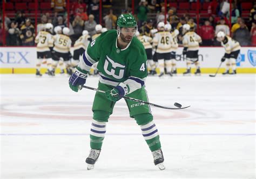
[[[33,46],[35,38],[35,27],[31,24],[30,19],[26,19],[25,24],[21,27],[21,35],[23,46]]]

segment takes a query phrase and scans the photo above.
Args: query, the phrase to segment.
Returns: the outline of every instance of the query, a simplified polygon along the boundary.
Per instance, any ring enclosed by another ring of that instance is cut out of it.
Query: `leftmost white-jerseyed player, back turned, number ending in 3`
[[[47,63],[48,74],[51,76],[53,75],[52,69],[51,69],[52,55],[50,50],[50,48],[53,47],[52,34],[50,33],[52,28],[53,28],[52,24],[47,23],[45,25],[45,30],[39,31],[35,39],[35,42],[37,44],[37,47],[36,47],[36,51],[37,51],[36,75],[37,76],[42,76],[42,74],[40,73],[40,68],[44,58]]]

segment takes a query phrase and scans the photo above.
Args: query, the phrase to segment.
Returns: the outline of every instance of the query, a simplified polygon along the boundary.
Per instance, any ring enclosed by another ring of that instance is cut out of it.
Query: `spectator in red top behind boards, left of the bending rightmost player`
[[[212,46],[214,42],[214,28],[209,20],[205,20],[205,25],[200,28],[200,37],[203,40],[203,46]]]

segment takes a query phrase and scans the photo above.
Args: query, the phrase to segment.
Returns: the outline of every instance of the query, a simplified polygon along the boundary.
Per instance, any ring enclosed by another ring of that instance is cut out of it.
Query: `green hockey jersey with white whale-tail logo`
[[[126,48],[117,46],[117,31],[110,30],[93,40],[80,58],[78,67],[89,71],[98,62],[99,82],[116,87],[123,82],[127,94],[140,89],[147,76],[147,57],[142,43],[133,37]]]

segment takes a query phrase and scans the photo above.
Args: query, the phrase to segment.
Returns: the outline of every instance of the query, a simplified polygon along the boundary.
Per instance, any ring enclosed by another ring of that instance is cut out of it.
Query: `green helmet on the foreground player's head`
[[[131,13],[122,14],[117,19],[117,26],[119,26],[119,27],[137,27],[137,22]]]

